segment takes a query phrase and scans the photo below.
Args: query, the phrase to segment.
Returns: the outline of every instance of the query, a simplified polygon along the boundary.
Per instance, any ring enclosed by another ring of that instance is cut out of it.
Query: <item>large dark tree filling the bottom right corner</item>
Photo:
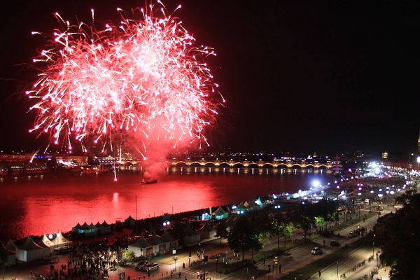
[[[420,279],[420,194],[403,195],[403,208],[379,218],[376,237],[391,279]],[[375,242],[376,243],[376,242]]]

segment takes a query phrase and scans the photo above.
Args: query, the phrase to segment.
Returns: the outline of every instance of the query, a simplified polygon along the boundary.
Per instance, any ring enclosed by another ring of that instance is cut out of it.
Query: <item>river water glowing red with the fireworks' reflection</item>
[[[141,185],[139,172],[43,175],[0,179],[0,239],[69,231],[77,223],[115,223],[309,188],[332,181],[325,170],[171,168],[158,183]],[[137,211],[136,211],[137,196]]]

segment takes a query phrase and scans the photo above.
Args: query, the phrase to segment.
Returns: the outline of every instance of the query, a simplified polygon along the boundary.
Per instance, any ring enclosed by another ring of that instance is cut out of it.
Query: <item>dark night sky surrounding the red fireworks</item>
[[[144,1],[9,1],[1,9],[0,148],[34,148],[19,94],[43,41],[30,31],[118,20]],[[122,4],[123,3],[123,4]],[[166,1],[216,49],[226,108],[209,138],[240,151],[414,151],[420,129],[419,1]]]

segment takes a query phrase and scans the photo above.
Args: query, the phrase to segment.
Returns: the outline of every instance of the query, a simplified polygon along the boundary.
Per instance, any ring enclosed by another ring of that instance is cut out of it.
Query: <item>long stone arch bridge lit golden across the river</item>
[[[123,161],[123,164],[137,165],[140,161]],[[248,162],[248,161],[223,161],[223,160],[173,160],[168,161],[168,165],[179,167],[235,167],[235,168],[317,168],[317,169],[331,169],[334,165],[320,164],[320,163],[297,163],[297,162]]]

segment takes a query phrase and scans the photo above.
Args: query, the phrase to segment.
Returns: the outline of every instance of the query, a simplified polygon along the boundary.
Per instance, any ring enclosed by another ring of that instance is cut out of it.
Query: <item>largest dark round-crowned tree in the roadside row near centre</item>
[[[232,250],[242,253],[242,260],[244,260],[244,253],[246,251],[258,248],[260,237],[248,218],[242,216],[238,218],[237,223],[230,230],[228,242]],[[260,245],[262,248],[262,244]]]

